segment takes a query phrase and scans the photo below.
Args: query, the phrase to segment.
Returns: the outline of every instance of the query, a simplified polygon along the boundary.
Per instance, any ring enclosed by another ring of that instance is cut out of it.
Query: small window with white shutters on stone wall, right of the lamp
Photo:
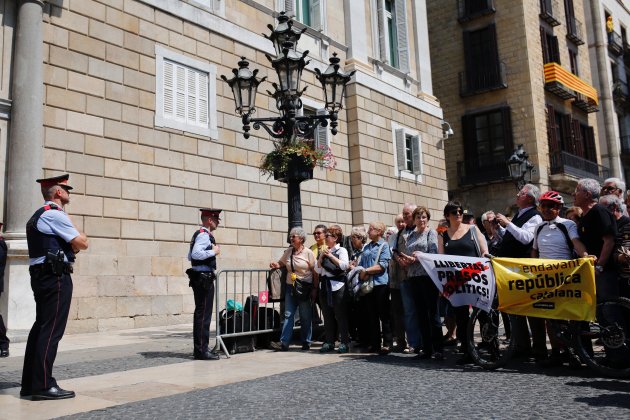
[[[422,142],[420,134],[392,122],[394,143],[394,173],[396,177],[421,181]]]

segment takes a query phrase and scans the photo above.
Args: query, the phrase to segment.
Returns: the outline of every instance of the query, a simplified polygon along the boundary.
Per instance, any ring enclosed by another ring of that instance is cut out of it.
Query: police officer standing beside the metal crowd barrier
[[[208,350],[210,340],[210,320],[214,303],[214,280],[217,269],[217,255],[221,248],[214,240],[212,232],[217,229],[221,219],[220,209],[199,209],[201,227],[190,240],[188,260],[192,267],[186,270],[190,287],[195,296],[195,314],[193,318],[193,348],[197,360],[217,360],[219,356]]]

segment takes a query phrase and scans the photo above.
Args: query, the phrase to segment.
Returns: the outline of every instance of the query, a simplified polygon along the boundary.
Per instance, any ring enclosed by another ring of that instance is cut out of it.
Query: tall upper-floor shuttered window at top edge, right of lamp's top
[[[381,61],[409,72],[409,43],[405,0],[376,0],[378,48]]]

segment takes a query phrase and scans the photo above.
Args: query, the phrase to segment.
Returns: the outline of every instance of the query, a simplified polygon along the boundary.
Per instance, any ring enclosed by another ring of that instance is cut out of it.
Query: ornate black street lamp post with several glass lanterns
[[[300,99],[306,87],[300,89],[302,72],[309,63],[306,60],[308,50],[303,53],[297,51],[297,42],[306,29],[298,30],[293,27],[293,20],[285,12],[278,16],[278,25],[271,30],[271,35],[265,37],[274,46],[276,57],[265,54],[271,66],[278,76],[278,84],[272,83],[274,92],[267,93],[276,100],[276,108],[280,111],[279,117],[253,118],[256,113],[256,93],[258,85],[266,77],[256,77],[258,70],[250,70],[245,57],[238,62],[238,69],[233,69],[234,77],[221,78],[230,86],[236,104],[236,113],[241,116],[243,122],[243,136],[247,139],[251,127],[258,130],[261,127],[277,141],[276,149],[281,149],[296,142],[313,137],[318,126],[327,127],[330,121],[330,131],[337,134],[337,113],[342,109],[342,101],[345,88],[354,71],[344,73],[340,71],[339,58],[333,54],[330,65],[321,72],[318,69],[317,80],[324,90],[325,107],[328,111],[325,115],[298,116],[297,112],[302,108]],[[302,159],[293,159],[286,172],[278,174],[276,179],[287,184],[289,231],[297,226],[302,226],[302,200],[300,196],[300,183],[313,178],[313,168],[307,166]]]

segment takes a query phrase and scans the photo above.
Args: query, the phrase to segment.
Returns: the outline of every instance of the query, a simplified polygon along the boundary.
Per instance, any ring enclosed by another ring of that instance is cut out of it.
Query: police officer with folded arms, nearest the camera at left
[[[35,323],[24,354],[20,396],[33,400],[73,398],[52,376],[57,346],[63,337],[72,299],[72,263],[88,240],[72,224],[63,207],[70,202],[70,175],[38,179],[44,206],[26,224]]]

